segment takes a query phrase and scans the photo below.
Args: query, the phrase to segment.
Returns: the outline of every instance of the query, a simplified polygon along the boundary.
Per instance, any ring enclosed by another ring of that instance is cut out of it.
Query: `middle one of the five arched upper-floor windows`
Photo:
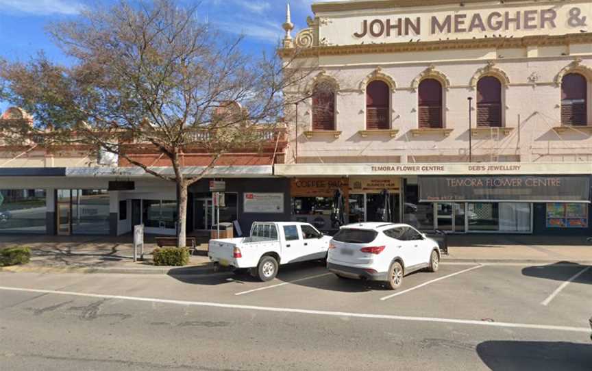
[[[424,79],[419,83],[418,92],[419,128],[442,128],[442,84],[436,79]]]

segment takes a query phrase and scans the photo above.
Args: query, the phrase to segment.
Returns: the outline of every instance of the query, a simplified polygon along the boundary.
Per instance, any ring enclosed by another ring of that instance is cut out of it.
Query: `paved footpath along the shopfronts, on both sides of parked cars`
[[[29,246],[32,259],[25,266],[0,268],[8,272],[77,272],[125,274],[212,274],[207,241],[201,242],[185,267],[156,267],[151,253],[156,244],[147,237],[145,260],[134,263],[132,237],[3,235],[0,248]],[[592,265],[592,244],[586,238],[531,235],[449,235],[446,263],[515,263]]]

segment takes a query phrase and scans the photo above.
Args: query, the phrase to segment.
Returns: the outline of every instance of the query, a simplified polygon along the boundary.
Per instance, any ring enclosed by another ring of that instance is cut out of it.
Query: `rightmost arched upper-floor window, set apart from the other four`
[[[561,81],[561,125],[587,125],[588,81],[569,73]]]

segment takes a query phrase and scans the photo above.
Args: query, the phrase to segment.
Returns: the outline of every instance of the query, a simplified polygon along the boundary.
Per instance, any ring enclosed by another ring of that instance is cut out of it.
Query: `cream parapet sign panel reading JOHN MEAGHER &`
[[[332,44],[348,44],[352,37],[358,42],[388,42],[414,36],[419,37],[415,41],[427,41],[579,34],[592,26],[591,18],[592,5],[585,1],[494,5],[486,9],[454,5],[447,10],[426,7],[423,12],[335,17],[326,22],[321,35]],[[343,32],[345,29],[349,32]]]

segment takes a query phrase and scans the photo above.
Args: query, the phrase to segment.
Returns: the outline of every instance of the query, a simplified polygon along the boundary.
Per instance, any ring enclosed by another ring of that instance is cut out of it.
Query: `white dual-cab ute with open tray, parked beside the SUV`
[[[250,270],[261,281],[271,281],[280,264],[325,259],[330,240],[308,223],[255,222],[250,237],[210,240],[208,257],[214,264]]]

